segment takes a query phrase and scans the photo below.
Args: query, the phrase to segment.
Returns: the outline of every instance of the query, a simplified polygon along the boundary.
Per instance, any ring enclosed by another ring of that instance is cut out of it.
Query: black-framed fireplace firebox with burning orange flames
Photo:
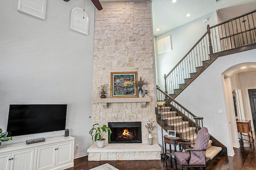
[[[109,122],[109,143],[141,143],[141,122]]]

